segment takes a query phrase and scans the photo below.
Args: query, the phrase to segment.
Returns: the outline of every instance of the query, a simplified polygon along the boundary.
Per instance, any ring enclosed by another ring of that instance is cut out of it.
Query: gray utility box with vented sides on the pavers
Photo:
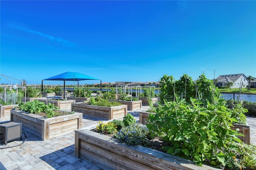
[[[6,145],[7,142],[22,138],[22,123],[8,122],[0,124],[0,140]]]

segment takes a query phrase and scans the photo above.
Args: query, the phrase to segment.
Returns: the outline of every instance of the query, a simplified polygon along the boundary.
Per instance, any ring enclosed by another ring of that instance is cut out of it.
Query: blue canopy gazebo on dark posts
[[[42,93],[43,93],[43,81],[44,80],[58,80],[58,81],[64,81],[64,99],[66,99],[66,85],[65,85],[65,81],[77,81],[77,84],[79,81],[82,81],[82,80],[100,80],[100,79],[97,79],[95,77],[91,77],[91,76],[88,76],[88,75],[85,75],[85,74],[81,74],[81,73],[77,73],[77,72],[66,72],[66,73],[62,73],[62,74],[59,74],[59,75],[55,75],[53,77],[49,77],[47,79],[43,79],[42,80]],[[79,84],[78,84],[79,85]],[[100,91],[101,91],[101,80],[100,80]]]

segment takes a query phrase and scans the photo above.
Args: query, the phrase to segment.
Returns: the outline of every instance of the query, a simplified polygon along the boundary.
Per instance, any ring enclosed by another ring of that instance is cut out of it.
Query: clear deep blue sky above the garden
[[[1,0],[0,8],[0,73],[28,84],[66,71],[102,82],[213,79],[214,70],[256,77],[256,1]]]

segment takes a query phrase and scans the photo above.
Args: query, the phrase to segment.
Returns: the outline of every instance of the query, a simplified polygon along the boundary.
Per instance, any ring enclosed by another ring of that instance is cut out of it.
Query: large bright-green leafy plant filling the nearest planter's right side
[[[235,156],[230,150],[237,148],[236,142],[242,142],[230,128],[238,120],[231,117],[223,99],[214,105],[207,102],[205,107],[199,100],[190,102],[160,105],[156,115],[149,116],[147,127],[159,136],[165,135],[162,139],[169,146],[163,149],[169,154],[192,158],[198,165],[206,159],[211,164],[225,165],[226,160]]]

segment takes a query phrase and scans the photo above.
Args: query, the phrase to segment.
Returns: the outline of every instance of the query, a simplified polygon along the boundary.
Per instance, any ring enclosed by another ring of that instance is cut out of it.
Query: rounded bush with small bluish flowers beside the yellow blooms
[[[116,138],[124,141],[127,145],[148,145],[148,128],[134,123],[131,126],[123,127],[116,133]]]

